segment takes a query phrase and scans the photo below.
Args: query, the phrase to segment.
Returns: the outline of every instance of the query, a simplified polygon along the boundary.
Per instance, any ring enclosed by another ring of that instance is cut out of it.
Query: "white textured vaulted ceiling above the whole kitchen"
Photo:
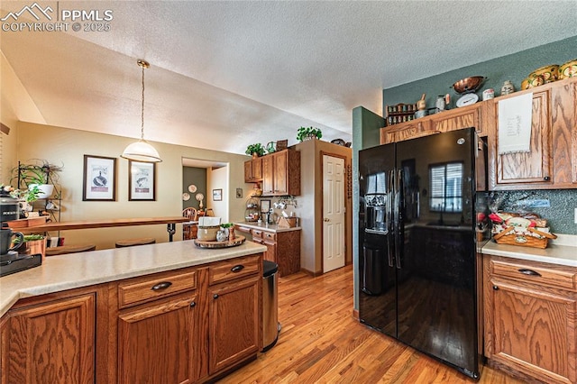
[[[0,17],[32,4],[3,1]],[[20,120],[139,137],[142,58],[145,138],[234,153],[293,144],[301,125],[350,141],[352,109],[381,113],[383,88],[577,35],[574,0],[38,4],[114,19],[108,32],[1,32],[43,118]]]

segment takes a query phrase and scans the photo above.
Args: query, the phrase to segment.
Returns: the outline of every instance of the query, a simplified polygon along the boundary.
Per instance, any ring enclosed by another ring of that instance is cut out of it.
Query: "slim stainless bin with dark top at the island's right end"
[[[262,261],[262,352],[267,352],[279,340],[279,265]]]

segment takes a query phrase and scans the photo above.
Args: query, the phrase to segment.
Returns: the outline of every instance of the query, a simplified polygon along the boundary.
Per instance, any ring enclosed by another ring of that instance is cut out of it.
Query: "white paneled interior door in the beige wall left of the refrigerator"
[[[323,272],[344,267],[344,159],[323,155]]]

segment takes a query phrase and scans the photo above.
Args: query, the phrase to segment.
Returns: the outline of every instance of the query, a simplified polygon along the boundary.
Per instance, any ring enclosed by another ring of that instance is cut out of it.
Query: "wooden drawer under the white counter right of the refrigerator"
[[[571,290],[577,288],[577,270],[569,270],[569,267],[492,260],[491,270],[496,276],[520,279],[549,287]]]

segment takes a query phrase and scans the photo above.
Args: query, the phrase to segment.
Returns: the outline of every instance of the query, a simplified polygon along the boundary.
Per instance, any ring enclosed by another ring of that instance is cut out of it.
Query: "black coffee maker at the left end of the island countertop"
[[[37,267],[42,263],[41,253],[19,253],[23,247],[24,235],[14,232],[8,222],[17,220],[20,215],[18,200],[10,196],[8,187],[0,188],[0,277]],[[11,247],[13,238],[17,239]]]

